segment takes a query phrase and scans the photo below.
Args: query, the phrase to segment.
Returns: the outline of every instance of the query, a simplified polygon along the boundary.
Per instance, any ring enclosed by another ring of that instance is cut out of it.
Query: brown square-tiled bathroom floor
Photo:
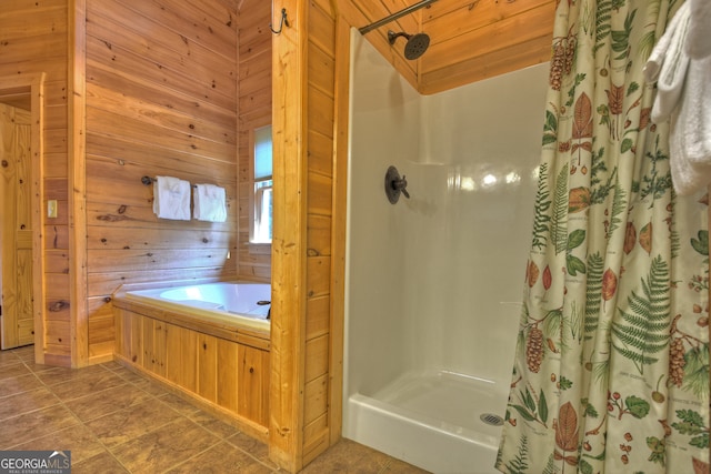
[[[118,363],[81,370],[0,352],[0,451],[69,450],[72,473],[277,473],[267,445]],[[342,440],[307,474],[424,473]]]

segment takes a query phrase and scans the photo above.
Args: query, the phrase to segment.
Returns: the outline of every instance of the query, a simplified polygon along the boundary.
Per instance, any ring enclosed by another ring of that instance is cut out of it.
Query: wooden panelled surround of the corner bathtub
[[[123,285],[113,294],[116,361],[267,442],[270,331],[127,296],[177,285]]]

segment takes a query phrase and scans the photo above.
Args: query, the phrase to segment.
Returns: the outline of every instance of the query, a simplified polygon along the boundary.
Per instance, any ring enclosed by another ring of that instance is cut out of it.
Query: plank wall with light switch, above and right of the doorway
[[[47,363],[69,365],[68,209],[68,8],[67,0],[4,0],[0,9],[0,77],[46,73],[43,120],[44,199],[59,203],[59,218],[46,220],[43,254],[46,294],[44,343]],[[38,167],[39,169],[39,167]],[[46,203],[42,203],[46,205]],[[38,362],[41,360],[38,357]]]

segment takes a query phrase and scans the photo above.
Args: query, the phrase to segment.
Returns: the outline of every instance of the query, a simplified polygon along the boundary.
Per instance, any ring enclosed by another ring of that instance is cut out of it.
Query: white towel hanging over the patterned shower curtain
[[[691,24],[690,3],[682,4],[644,67],[648,81],[657,81],[651,119],[670,120],[672,183],[679,195],[711,183],[711,57],[685,53]]]

